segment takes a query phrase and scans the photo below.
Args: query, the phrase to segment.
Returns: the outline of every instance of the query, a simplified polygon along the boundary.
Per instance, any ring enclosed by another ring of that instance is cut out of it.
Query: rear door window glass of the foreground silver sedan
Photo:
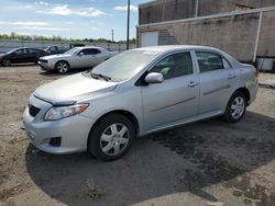
[[[196,52],[200,72],[229,68],[227,59],[216,53]]]

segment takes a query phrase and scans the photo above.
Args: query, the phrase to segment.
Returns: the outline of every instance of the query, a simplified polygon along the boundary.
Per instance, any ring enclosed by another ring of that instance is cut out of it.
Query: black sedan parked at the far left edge
[[[11,64],[37,62],[40,57],[48,55],[45,50],[38,48],[14,48],[6,54],[0,54],[0,64],[4,67]]]

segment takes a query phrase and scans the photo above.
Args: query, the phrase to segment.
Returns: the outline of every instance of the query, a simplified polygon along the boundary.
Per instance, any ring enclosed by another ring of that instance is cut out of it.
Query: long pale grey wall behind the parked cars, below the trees
[[[123,52],[127,49],[125,44],[112,44],[112,43],[84,43],[85,45],[100,46],[108,50]],[[6,53],[18,47],[33,47],[33,48],[46,48],[48,46],[58,46],[63,49],[69,48],[69,43],[66,42],[40,42],[40,41],[10,41],[0,39],[0,53]],[[130,48],[135,48],[135,45],[130,44]]]

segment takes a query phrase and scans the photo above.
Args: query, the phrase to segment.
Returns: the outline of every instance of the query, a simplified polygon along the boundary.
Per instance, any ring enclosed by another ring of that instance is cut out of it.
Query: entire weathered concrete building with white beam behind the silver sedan
[[[275,58],[274,0],[158,0],[139,12],[139,47],[207,45],[244,62]]]

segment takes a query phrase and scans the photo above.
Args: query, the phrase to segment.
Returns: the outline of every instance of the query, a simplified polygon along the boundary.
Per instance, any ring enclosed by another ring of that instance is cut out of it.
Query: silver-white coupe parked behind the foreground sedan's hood
[[[95,46],[75,47],[62,55],[42,57],[38,65],[43,70],[57,70],[59,73],[66,73],[69,69],[94,67],[116,54],[116,52]]]

